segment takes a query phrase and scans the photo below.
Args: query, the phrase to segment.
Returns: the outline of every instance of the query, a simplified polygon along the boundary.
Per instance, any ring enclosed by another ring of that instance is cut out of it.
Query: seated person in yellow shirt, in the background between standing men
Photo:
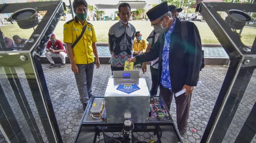
[[[133,57],[135,55],[140,55],[142,53],[145,53],[147,48],[147,41],[142,39],[142,34],[140,31],[137,31],[135,33],[135,38],[133,40]],[[142,63],[141,63],[142,66]]]

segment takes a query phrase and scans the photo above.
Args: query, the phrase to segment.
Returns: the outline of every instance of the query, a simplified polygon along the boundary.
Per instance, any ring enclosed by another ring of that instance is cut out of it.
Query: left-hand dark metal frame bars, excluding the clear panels
[[[22,67],[25,74],[25,79],[29,85],[29,90],[36,106],[42,127],[47,137],[47,142],[62,143],[61,134],[58,128],[56,117],[53,111],[53,106],[49,96],[48,88],[45,82],[42,65],[40,63],[40,55],[42,54],[47,41],[49,40],[53,30],[55,29],[60,16],[64,11],[62,1],[48,2],[30,2],[30,3],[15,3],[15,4],[0,4],[0,13],[14,13],[19,9],[33,8],[36,11],[47,11],[34,29],[31,37],[26,45],[16,51],[10,51],[3,43],[1,34],[0,42],[0,68],[3,71],[0,75],[8,79],[7,84],[10,85],[10,91],[15,95],[18,106],[21,109],[22,116],[32,133],[31,138],[36,143],[45,142],[42,137],[42,132],[38,128],[35,117],[24,93],[24,88],[17,75],[15,67]],[[15,49],[15,47],[13,48]],[[15,117],[12,102],[7,100],[9,93],[5,92],[3,82],[0,82],[0,128],[8,142],[28,142],[24,138],[22,127]],[[41,129],[42,130],[42,129]]]

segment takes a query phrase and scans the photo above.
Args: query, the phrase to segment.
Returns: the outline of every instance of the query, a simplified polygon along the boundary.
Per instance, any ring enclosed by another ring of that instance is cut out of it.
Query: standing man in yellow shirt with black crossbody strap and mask
[[[93,96],[94,56],[96,59],[96,68],[100,67],[100,61],[97,52],[97,38],[94,27],[91,23],[86,21],[87,2],[85,0],[74,0],[73,8],[76,16],[74,19],[64,24],[63,35],[67,55],[71,63],[71,70],[74,72],[76,79],[80,101],[85,110],[89,98]],[[84,33],[82,33],[83,28],[86,28]],[[81,38],[79,39],[80,35]],[[79,39],[79,41],[73,45],[76,39]]]

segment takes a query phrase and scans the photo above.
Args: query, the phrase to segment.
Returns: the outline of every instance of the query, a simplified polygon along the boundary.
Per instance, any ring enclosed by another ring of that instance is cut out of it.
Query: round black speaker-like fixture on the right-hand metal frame
[[[228,16],[226,17],[225,21],[227,21],[227,23],[229,23],[233,29],[243,29],[245,23],[252,20],[248,13],[237,9],[231,9],[227,14]]]

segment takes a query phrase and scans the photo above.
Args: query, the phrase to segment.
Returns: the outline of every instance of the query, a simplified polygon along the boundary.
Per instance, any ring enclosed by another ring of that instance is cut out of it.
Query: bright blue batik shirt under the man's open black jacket
[[[162,53],[162,74],[160,79],[160,84],[164,88],[172,89],[171,85],[171,75],[169,71],[169,49],[171,45],[171,33],[175,27],[176,19],[172,23],[171,28],[164,33],[165,41],[163,45],[163,53]]]

